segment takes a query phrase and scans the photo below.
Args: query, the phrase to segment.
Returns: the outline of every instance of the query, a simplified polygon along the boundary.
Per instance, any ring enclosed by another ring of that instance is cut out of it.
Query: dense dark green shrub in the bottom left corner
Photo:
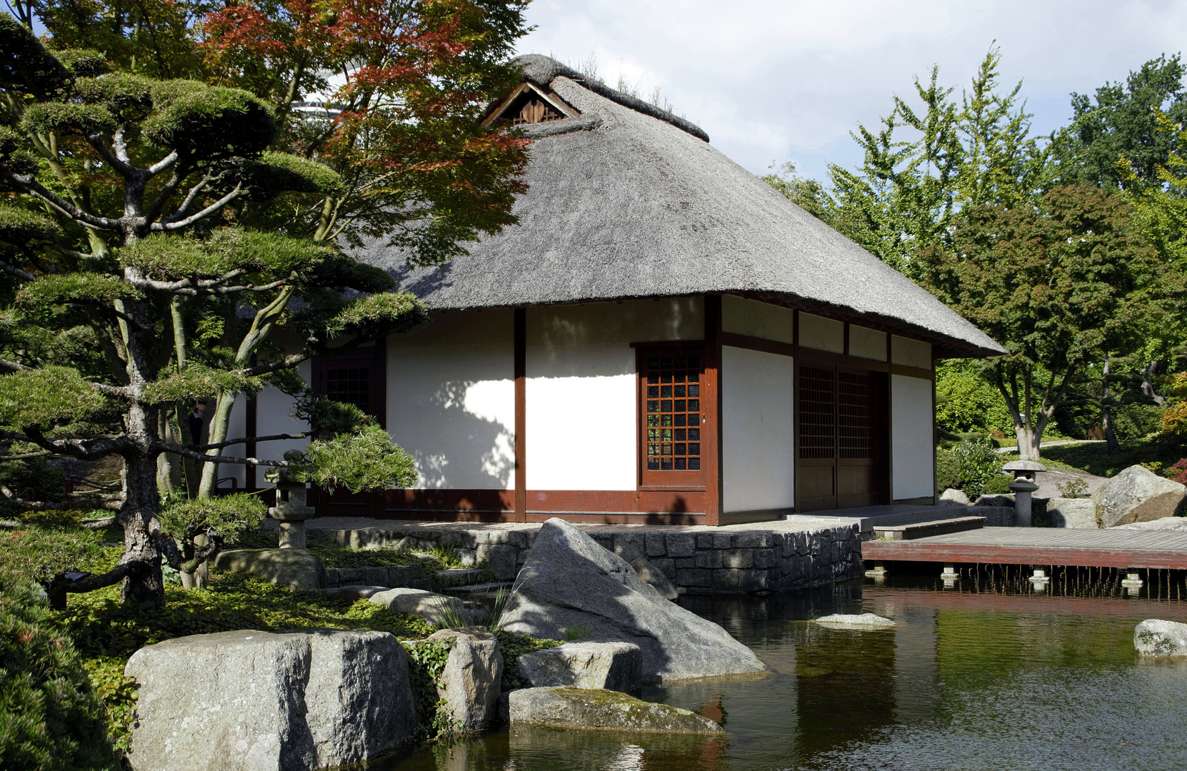
[[[114,769],[104,709],[34,585],[0,571],[0,767]]]

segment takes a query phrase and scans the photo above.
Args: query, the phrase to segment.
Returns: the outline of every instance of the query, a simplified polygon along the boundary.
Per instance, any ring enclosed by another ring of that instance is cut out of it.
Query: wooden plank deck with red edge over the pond
[[[865,541],[863,560],[1187,569],[1181,530],[982,528],[912,541]]]

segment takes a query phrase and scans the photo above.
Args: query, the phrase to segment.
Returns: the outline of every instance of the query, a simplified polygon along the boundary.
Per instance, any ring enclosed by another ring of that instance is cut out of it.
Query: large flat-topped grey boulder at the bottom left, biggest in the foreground
[[[387,632],[220,632],[141,648],[138,771],[301,771],[375,758],[417,727],[407,654]]]

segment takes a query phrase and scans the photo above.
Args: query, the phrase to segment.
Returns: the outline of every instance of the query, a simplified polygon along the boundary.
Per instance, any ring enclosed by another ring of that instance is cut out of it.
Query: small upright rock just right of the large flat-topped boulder
[[[481,731],[497,716],[503,655],[495,636],[480,626],[443,629],[426,639],[452,639],[437,686],[458,731]]]

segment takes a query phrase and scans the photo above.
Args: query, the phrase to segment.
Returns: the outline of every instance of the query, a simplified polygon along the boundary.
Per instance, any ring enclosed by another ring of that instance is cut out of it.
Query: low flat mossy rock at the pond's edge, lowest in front
[[[722,727],[687,709],[640,701],[615,690],[523,688],[508,696],[512,722],[603,731],[721,733]]]

